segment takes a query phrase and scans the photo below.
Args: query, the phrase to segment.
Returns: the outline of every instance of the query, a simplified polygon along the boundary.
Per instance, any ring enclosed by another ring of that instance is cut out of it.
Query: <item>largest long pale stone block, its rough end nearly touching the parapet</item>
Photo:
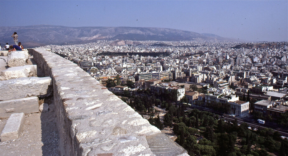
[[[0,101],[21,99],[30,96],[51,94],[52,79],[50,77],[21,77],[0,81]]]

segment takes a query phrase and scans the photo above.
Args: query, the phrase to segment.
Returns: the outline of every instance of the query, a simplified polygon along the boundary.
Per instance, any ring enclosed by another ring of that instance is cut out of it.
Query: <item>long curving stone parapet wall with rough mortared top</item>
[[[76,64],[29,49],[53,80],[60,155],[188,155]]]

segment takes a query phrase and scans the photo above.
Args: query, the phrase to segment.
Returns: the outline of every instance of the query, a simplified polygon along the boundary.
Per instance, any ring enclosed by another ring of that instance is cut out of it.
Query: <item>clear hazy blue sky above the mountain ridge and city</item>
[[[288,1],[0,1],[0,26],[161,27],[288,40]]]

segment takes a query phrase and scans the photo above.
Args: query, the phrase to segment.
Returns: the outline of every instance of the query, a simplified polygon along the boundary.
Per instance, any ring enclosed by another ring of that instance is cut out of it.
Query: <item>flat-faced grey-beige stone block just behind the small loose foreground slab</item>
[[[39,112],[38,97],[0,101],[0,108],[0,118],[7,118],[13,113],[37,113]]]

